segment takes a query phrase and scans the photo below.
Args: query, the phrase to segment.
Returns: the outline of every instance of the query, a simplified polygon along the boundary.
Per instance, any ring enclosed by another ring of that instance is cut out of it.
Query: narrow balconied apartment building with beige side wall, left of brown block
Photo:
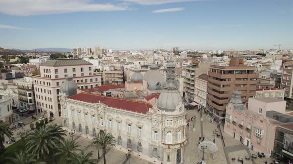
[[[211,63],[202,63],[202,58],[192,58],[192,63],[186,67],[185,76],[185,100],[187,102],[194,101],[194,84],[195,77],[203,73],[207,73]]]

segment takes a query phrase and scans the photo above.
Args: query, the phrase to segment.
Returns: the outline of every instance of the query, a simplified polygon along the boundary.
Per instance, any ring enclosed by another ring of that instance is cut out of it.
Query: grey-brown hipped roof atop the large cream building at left
[[[41,66],[76,66],[76,65],[92,65],[83,59],[53,59],[47,60]]]

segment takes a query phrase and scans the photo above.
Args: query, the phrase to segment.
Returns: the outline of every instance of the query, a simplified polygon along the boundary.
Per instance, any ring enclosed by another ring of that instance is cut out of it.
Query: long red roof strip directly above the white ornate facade
[[[107,97],[107,96],[89,94],[89,93],[78,93],[69,97],[69,99],[84,101],[88,103],[101,102],[112,108],[124,109],[124,110],[143,113],[143,114],[146,114],[148,112],[148,109],[152,107],[151,104],[146,102],[120,99],[115,97]]]

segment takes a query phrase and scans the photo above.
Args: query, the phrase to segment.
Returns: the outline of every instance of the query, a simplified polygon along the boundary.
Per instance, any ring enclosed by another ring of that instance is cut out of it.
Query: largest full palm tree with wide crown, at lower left
[[[45,158],[50,153],[56,164],[55,147],[64,140],[65,130],[62,126],[40,126],[25,137],[25,147],[28,152],[37,155],[37,159]],[[51,152],[52,151],[52,152]]]

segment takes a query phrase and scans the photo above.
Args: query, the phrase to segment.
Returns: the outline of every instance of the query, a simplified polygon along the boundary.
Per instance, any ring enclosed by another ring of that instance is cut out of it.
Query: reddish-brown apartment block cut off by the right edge
[[[283,63],[283,73],[281,80],[281,88],[285,89],[284,100],[286,100],[286,110],[292,111],[293,109],[293,62]]]

